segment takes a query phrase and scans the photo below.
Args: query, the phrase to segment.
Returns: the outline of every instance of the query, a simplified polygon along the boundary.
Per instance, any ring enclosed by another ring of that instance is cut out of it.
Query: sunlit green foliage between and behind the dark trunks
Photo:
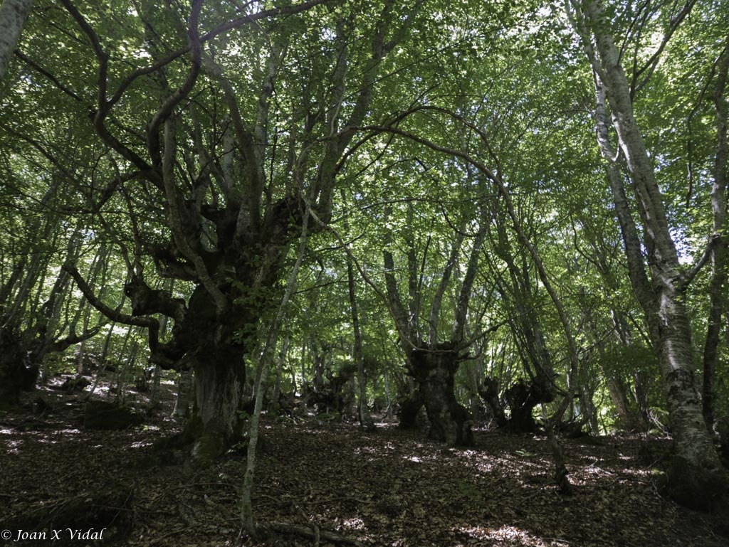
[[[150,155],[146,131],[160,103],[190,74],[184,50],[190,8],[171,3],[159,9],[148,0],[133,7],[117,0],[74,5],[108,55],[101,101],[109,101],[106,125],[125,154],[104,142],[90,123],[100,106],[100,62],[90,36],[61,4],[36,2],[22,55],[12,61],[0,87],[0,310],[14,310],[29,339],[39,339],[45,329],[58,340],[71,334],[72,326],[79,334],[84,323],[93,328],[105,321],[73,283],[56,283],[69,257],[85,278],[95,278],[95,294],[124,313],[131,309],[123,285],[135,270],[155,288],[176,276],[159,259],[160,249],[175,237],[168,196],[150,184],[133,156],[149,165],[158,160]],[[217,210],[205,210],[199,219],[190,213],[184,225],[198,230],[211,277],[229,291],[233,315],[240,319],[230,339],[252,348],[267,332],[298,232],[286,232],[286,241],[270,253],[258,252],[255,242],[254,251],[227,248],[225,267],[209,258],[230,238],[232,224],[223,217],[246,215],[239,202],[249,198],[254,164],[242,143],[232,144],[231,134],[239,128],[233,127],[230,97],[210,68],[212,61],[225,74],[243,128],[253,135],[265,166],[264,219],[284,197],[316,200],[332,143],[352,133],[333,160],[330,229],[311,224],[286,317],[285,387],[311,382],[320,371],[343,371],[343,363],[352,361],[349,253],[357,266],[368,396],[385,396],[381,379],[387,371],[394,397],[396,386],[405,384],[405,355],[394,310],[383,298],[383,251],[394,258],[394,271],[387,273],[394,276],[413,339],[424,340],[434,331],[437,340],[431,342],[445,342],[453,332],[476,235],[483,233],[464,328],[477,355],[477,374],[498,377],[502,387],[529,377],[538,342],[558,386],[566,389],[573,371],[564,326],[529,249],[515,235],[518,222],[566,309],[578,353],[585,355],[580,389],[593,393],[609,416],[605,377],[620,377],[634,389],[632,378],[643,374],[654,380],[650,405],[660,406],[655,356],[642,338],[642,311],[595,142],[593,79],[577,37],[564,24],[563,7],[469,0],[385,6],[384,1],[325,2],[297,15],[229,25],[205,42],[198,81],[171,113],[180,202],[190,210],[196,204]],[[254,4],[203,4],[200,32],[254,9]],[[639,85],[647,74],[640,70],[671,21],[667,6],[645,9],[654,11],[638,20],[632,4],[607,3],[615,35],[625,40],[623,65],[629,79],[636,77],[636,113],[689,269],[712,232],[709,192],[717,135],[710,95],[714,60],[725,47],[725,2],[697,5],[660,53],[650,79]],[[392,50],[373,63],[373,37],[382,29],[381,39]],[[148,69],[153,63],[160,63],[160,70]],[[346,127],[370,75],[367,112],[359,127]],[[267,84],[272,89],[263,96]],[[513,211],[478,165],[500,177]],[[224,191],[226,184],[230,192]],[[634,204],[635,198],[628,200]],[[301,207],[292,208],[283,225],[296,227]],[[456,257],[453,275],[432,319],[451,256]],[[283,265],[265,283],[270,264]],[[189,304],[200,281],[177,277],[174,296]],[[705,269],[687,291],[697,347],[706,332],[708,283]],[[53,295],[61,303],[47,312],[50,304],[44,304]],[[251,310],[260,313],[249,319]],[[625,323],[630,343],[615,340],[616,320]],[[164,340],[170,339],[173,323]],[[108,333],[101,328],[87,351],[101,355]],[[133,347],[146,356],[145,332],[116,328],[106,352],[128,355]],[[48,357],[49,369],[70,371],[70,351]],[[717,389],[723,394],[729,390],[726,353],[722,345]],[[464,369],[456,383],[466,397],[473,385]],[[717,400],[727,412],[727,398]]]

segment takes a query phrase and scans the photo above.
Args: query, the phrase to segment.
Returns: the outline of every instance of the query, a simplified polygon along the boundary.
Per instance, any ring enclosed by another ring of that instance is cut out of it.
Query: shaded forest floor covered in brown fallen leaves
[[[262,420],[253,503],[268,535],[253,540],[239,532],[243,452],[199,471],[153,448],[179,431],[171,387],[122,431],[83,428],[84,393],[41,390],[1,415],[0,546],[729,546],[729,516],[661,497],[666,438],[565,439],[565,497],[539,436],[483,430],[452,449],[313,416]],[[34,414],[39,394],[51,408]]]

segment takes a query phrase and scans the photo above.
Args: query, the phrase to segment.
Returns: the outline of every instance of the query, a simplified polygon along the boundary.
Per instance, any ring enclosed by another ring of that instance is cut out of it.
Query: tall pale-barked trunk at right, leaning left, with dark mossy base
[[[620,66],[609,20],[598,1],[577,2],[570,12],[575,30],[580,34],[585,53],[596,71],[598,88],[604,93],[612,111],[613,126],[625,155],[636,192],[639,216],[644,224],[644,247],[650,265],[652,291],[644,282],[636,284],[638,264],[631,267],[631,283],[644,307],[654,349],[658,354],[663,393],[668,405],[674,435],[674,457],[668,469],[668,493],[679,503],[694,508],[712,508],[729,487],[729,477],[722,468],[712,436],[706,428],[701,397],[695,385],[692,363],[691,331],[685,306],[685,291],[690,278],[679,268],[679,259],[668,229],[663,197],[634,117],[631,90]],[[593,36],[596,51],[593,49]],[[599,138],[604,134],[599,132]],[[621,185],[621,180],[614,181]],[[614,189],[614,197],[620,197]],[[615,200],[621,221],[630,218],[627,202]],[[628,221],[629,224],[630,221]],[[625,231],[623,237],[625,238]],[[626,248],[634,241],[625,240]],[[628,253],[628,262],[634,256]],[[642,269],[642,261],[640,264]],[[644,276],[642,276],[644,277]]]

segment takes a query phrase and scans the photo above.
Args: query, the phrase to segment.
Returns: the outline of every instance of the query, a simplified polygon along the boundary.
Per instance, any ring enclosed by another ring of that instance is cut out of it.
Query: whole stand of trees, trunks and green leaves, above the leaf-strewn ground
[[[725,495],[725,1],[9,4],[0,404],[113,345],[192,371],[201,465],[252,391],[356,380],[557,468],[666,430],[671,495]]]

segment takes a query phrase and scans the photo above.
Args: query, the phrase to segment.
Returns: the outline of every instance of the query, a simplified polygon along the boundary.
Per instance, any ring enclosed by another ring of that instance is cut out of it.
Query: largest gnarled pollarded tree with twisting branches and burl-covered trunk
[[[24,57],[31,79],[87,117],[105,150],[106,181],[80,183],[78,212],[125,210],[131,312],[99,299],[74,261],[64,269],[110,319],[147,328],[150,361],[195,371],[193,454],[207,460],[234,438],[243,355],[276,302],[297,226],[306,210],[330,221],[354,127],[419,4],[61,5],[37,24],[53,17],[44,32],[62,28],[69,51],[45,58],[31,39]],[[77,66],[87,70],[63,82]],[[190,294],[155,290],[159,277]],[[174,322],[168,341],[157,314]]]

